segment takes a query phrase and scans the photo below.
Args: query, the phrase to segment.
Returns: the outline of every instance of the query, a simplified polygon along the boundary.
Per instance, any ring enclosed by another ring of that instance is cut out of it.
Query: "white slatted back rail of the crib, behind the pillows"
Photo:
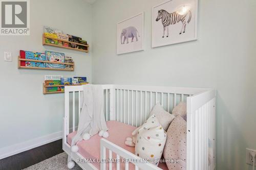
[[[111,114],[114,116],[112,119],[136,127],[143,124],[156,103],[160,103],[170,113],[180,102],[186,102],[188,96],[207,90],[133,85],[113,85],[113,88],[115,106],[111,106],[115,114]]]

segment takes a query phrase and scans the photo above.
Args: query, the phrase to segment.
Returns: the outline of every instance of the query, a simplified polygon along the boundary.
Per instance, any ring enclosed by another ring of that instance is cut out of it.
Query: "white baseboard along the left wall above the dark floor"
[[[77,129],[77,127],[75,127],[75,129]],[[36,147],[40,147],[41,145],[59,140],[61,138],[62,138],[62,131],[59,131],[46,136],[41,136],[38,138],[27,140],[22,143],[13,144],[13,145],[10,145],[9,147],[0,148],[0,159],[6,158],[24,151],[31,150]]]

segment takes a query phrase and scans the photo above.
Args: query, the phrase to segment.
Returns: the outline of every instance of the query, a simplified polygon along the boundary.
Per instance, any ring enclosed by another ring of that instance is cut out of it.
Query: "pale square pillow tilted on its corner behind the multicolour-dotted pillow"
[[[152,109],[150,116],[155,114],[156,117],[159,120],[159,123],[162,125],[163,129],[167,131],[170,123],[173,121],[175,116],[173,114],[170,114],[169,112],[166,112],[163,107],[157,103],[154,108]]]

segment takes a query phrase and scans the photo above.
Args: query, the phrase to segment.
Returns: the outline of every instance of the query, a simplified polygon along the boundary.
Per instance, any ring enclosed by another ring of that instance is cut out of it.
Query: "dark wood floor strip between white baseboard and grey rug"
[[[0,170],[19,170],[62,153],[62,139],[0,160]]]

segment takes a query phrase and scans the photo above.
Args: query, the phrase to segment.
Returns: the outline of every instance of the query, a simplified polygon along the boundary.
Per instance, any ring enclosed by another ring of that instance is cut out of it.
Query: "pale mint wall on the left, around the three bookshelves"
[[[64,94],[42,94],[44,75],[87,76],[91,82],[91,53],[42,46],[44,25],[91,43],[91,5],[75,2],[30,0],[30,36],[0,36],[0,149],[62,131]],[[63,52],[74,58],[75,71],[18,69],[19,50]],[[12,52],[12,62],[4,61],[5,51]]]

